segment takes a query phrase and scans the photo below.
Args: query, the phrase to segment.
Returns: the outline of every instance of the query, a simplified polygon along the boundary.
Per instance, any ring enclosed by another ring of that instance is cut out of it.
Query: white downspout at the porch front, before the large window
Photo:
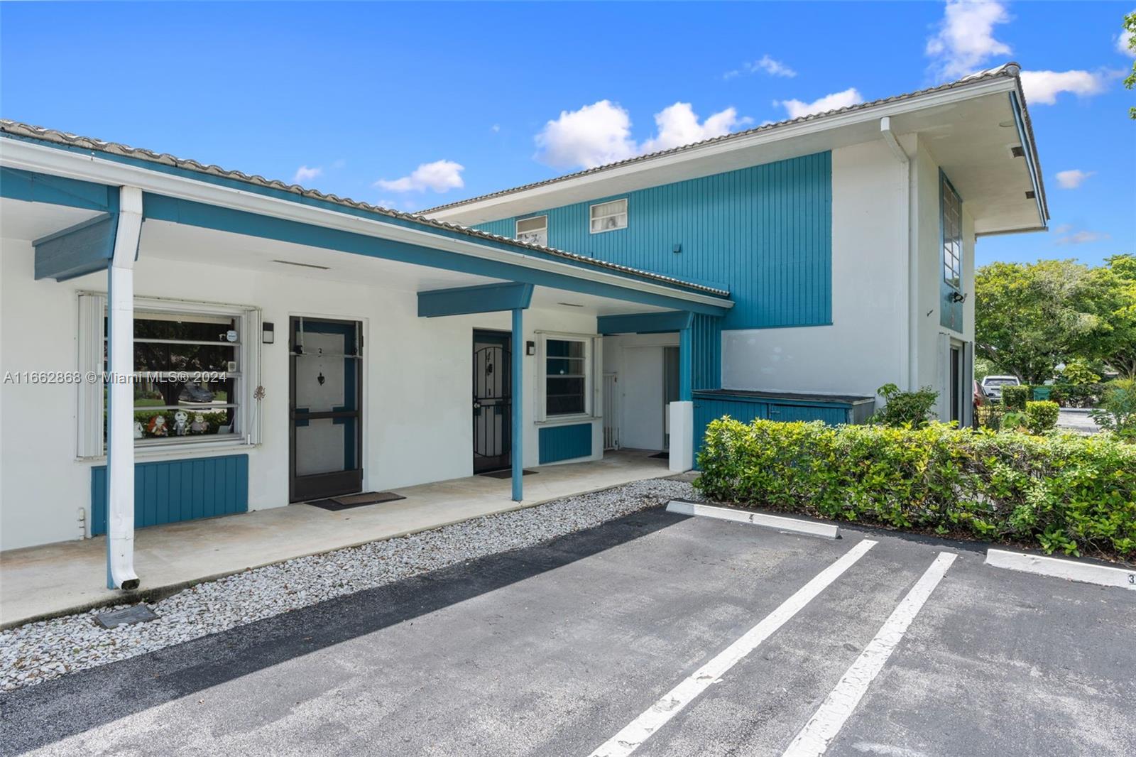
[[[107,290],[107,588],[136,589],[134,573],[134,258],[142,233],[142,190],[123,186]]]

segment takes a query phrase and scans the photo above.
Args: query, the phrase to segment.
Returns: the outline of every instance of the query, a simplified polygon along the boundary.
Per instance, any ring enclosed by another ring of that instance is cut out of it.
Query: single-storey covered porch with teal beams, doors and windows
[[[345,517],[326,540],[299,527],[307,547],[265,544],[267,561],[665,473],[604,457],[603,335],[646,328],[684,334],[687,454],[670,468],[691,467],[691,324],[726,313],[727,292],[100,145],[0,145],[0,303],[24,324],[5,332],[5,368],[77,377],[3,388],[3,549],[70,555],[83,591],[107,596],[200,579],[167,575],[167,555],[214,566],[237,521],[293,523],[290,504],[451,497],[377,507],[373,529]],[[469,479],[493,468],[510,477]],[[469,483],[432,483],[454,480]],[[248,515],[200,521],[233,514]],[[236,539],[225,569],[257,561]],[[6,602],[42,585],[11,574],[12,554]]]

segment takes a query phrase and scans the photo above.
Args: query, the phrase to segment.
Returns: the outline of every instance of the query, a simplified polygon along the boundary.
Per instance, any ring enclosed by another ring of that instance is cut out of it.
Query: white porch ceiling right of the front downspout
[[[504,281],[153,219],[142,225],[139,266],[150,258],[412,292]],[[532,307],[595,315],[665,309],[548,286],[535,289]]]

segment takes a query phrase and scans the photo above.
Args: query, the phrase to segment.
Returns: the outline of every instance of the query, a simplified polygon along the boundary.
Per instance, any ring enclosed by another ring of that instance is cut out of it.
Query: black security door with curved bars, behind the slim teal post
[[[474,332],[474,473],[511,465],[512,373],[510,336]]]

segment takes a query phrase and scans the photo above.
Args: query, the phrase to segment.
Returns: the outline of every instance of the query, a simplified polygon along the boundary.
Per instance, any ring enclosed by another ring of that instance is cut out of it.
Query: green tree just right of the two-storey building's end
[[[1044,382],[1059,363],[1092,351],[1094,283],[1075,260],[983,266],[975,275],[976,352],[1025,382]]]

